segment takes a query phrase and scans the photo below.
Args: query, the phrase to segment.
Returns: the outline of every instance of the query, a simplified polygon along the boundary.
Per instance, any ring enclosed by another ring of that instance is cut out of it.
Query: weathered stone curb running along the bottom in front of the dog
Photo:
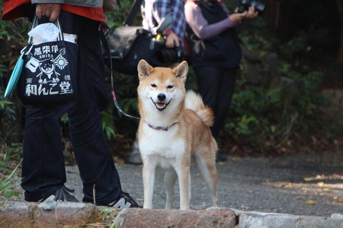
[[[331,217],[244,212],[210,207],[207,210],[114,210],[89,203],[0,202],[1,227],[226,227],[342,228],[343,215]]]

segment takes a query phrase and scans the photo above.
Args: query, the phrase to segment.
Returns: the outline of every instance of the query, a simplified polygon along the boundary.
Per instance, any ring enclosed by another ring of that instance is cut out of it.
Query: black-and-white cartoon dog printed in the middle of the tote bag
[[[47,84],[48,82],[57,83],[58,81],[60,81],[60,79],[58,78],[59,74],[55,71],[53,58],[40,61],[39,68],[40,71],[42,71],[42,73],[38,75],[40,77],[40,79],[38,80],[40,84]]]

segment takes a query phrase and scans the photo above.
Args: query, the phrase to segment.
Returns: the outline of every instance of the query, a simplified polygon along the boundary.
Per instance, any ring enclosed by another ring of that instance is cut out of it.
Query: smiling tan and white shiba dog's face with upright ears
[[[145,60],[138,64],[139,100],[150,103],[162,112],[167,107],[178,105],[185,97],[185,81],[188,64],[181,62],[176,68],[153,68]]]

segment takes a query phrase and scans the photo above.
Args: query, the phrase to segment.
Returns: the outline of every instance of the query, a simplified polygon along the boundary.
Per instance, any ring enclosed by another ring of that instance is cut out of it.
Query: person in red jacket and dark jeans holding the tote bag
[[[25,201],[78,202],[69,194],[73,190],[64,186],[67,177],[60,119],[67,112],[75,160],[83,183],[82,201],[113,207],[139,207],[128,193],[121,190],[102,129],[100,112],[109,101],[99,36],[99,25],[104,23],[103,1],[80,0],[77,5],[69,0],[4,1],[3,20],[21,16],[32,20],[34,14],[38,23],[54,22],[59,18],[63,32],[77,36],[78,93],[75,99],[64,105],[27,105],[21,183]]]

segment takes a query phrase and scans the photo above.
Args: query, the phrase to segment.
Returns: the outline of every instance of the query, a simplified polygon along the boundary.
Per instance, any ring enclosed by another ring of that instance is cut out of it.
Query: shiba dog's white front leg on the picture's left
[[[154,195],[156,165],[145,163],[143,166],[143,188],[144,205],[143,208],[152,209],[152,197]]]

